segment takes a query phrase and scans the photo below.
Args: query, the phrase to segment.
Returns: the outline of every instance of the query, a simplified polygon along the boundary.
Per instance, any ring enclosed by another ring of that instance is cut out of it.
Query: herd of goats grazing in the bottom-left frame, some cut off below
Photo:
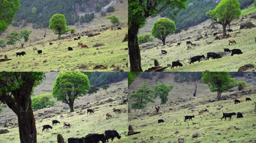
[[[92,109],[87,109],[87,114],[88,112],[94,113],[94,111]],[[111,113],[107,113],[106,114],[106,119],[111,118],[113,115]],[[52,120],[52,126],[56,125],[57,123],[60,123],[60,121],[58,120]],[[51,125],[43,125],[43,131],[46,131],[51,128]],[[64,127],[69,127],[70,128],[70,123],[64,122],[63,123],[63,128]],[[118,139],[121,139],[121,136],[119,135],[119,133],[116,130],[106,130],[105,134],[96,134],[96,133],[90,133],[88,135],[86,135],[85,137],[82,138],[73,138],[70,137],[68,138],[68,143],[98,143],[98,142],[102,142],[102,143],[106,143],[109,142],[109,139],[111,139],[113,141],[113,139],[117,137]]]

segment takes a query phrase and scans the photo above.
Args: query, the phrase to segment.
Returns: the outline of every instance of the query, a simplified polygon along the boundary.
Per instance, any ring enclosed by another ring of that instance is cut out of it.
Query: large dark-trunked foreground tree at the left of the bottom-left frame
[[[21,143],[37,143],[31,95],[42,80],[43,72],[0,73],[0,101],[18,116]]]

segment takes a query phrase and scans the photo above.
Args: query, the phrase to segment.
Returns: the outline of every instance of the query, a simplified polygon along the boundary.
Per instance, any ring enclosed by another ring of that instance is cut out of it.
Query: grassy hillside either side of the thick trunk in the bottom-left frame
[[[121,88],[121,89],[118,89]],[[57,134],[62,134],[65,141],[69,137],[84,137],[88,133],[104,133],[105,130],[116,130],[121,134],[121,139],[114,139],[113,143],[127,142],[125,137],[128,130],[128,105],[119,105],[119,102],[127,98],[124,91],[127,90],[127,80],[112,83],[105,93],[100,89],[98,93],[91,96],[79,97],[74,102],[75,111],[69,113],[69,109],[63,109],[67,104],[57,102],[54,107],[44,108],[34,111],[36,118],[37,143],[55,143]],[[109,99],[112,102],[109,102]],[[108,101],[108,102],[107,102]],[[76,108],[77,107],[77,108]],[[94,109],[94,113],[86,114],[86,109]],[[121,109],[121,112],[113,112],[113,108]],[[113,117],[106,120],[106,112],[112,112]],[[1,120],[14,118],[11,122],[16,121],[16,115],[6,112],[5,108],[1,113]],[[42,132],[42,125],[52,125],[52,120],[58,120],[61,124],[54,125],[52,129]],[[70,128],[63,128],[63,122],[71,124]],[[1,127],[3,128],[3,127]],[[0,142],[19,143],[19,129],[15,126],[9,126],[10,131],[7,134],[0,134]]]

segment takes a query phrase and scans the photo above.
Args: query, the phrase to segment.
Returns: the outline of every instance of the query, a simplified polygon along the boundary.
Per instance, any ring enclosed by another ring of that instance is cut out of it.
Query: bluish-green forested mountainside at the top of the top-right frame
[[[168,18],[174,20],[176,28],[183,29],[189,26],[197,25],[208,19],[208,16],[206,16],[205,13],[214,9],[219,1],[220,0],[189,0],[187,3],[187,9],[181,10],[175,19],[172,19],[169,15],[172,13],[171,9],[164,10],[160,13],[160,15],[162,17],[167,16]],[[241,9],[253,3],[253,0],[238,1]]]

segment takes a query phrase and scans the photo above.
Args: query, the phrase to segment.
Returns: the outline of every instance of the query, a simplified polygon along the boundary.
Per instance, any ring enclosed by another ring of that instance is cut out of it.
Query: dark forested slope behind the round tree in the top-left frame
[[[21,0],[20,8],[15,15],[13,26],[34,23],[33,28],[45,28],[52,15],[65,15],[67,25],[78,22],[77,13],[92,13],[107,6],[111,0]],[[89,22],[94,15],[80,15],[81,22]]]

